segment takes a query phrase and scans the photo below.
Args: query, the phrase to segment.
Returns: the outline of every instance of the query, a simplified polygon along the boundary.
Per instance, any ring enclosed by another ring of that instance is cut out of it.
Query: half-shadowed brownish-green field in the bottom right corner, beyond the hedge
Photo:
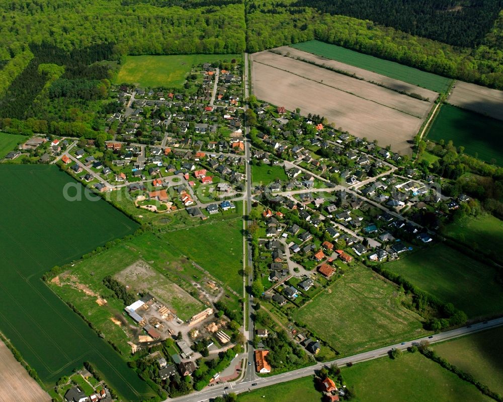
[[[503,328],[495,328],[432,348],[449,363],[473,375],[494,392],[503,394]]]

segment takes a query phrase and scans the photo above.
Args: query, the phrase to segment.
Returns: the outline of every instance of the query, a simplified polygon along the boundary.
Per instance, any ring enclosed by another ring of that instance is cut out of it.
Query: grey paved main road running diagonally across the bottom
[[[251,389],[258,389],[258,388],[262,388],[265,386],[278,384],[278,383],[285,382],[285,381],[290,381],[290,380],[293,380],[296,378],[307,377],[309,375],[313,375],[315,370],[319,370],[320,368],[322,368],[324,366],[330,366],[332,364],[337,364],[338,366],[342,367],[348,363],[355,364],[355,363],[359,363],[359,362],[363,362],[363,361],[367,361],[367,360],[372,360],[372,359],[377,359],[379,357],[386,356],[392,348],[405,350],[409,346],[412,346],[412,344],[420,343],[421,341],[428,341],[431,344],[433,344],[436,342],[447,341],[449,339],[454,339],[454,338],[458,338],[458,337],[461,337],[464,335],[484,331],[489,328],[500,327],[503,325],[503,317],[496,318],[491,321],[484,321],[484,323],[473,324],[469,327],[458,328],[456,330],[447,331],[447,332],[443,332],[440,334],[435,334],[432,336],[432,338],[424,337],[424,338],[420,338],[420,339],[415,339],[413,341],[407,341],[407,342],[403,342],[403,343],[399,343],[399,344],[395,344],[395,345],[385,346],[383,348],[374,349],[369,352],[359,353],[354,356],[348,356],[348,357],[344,357],[342,359],[332,360],[332,361],[326,362],[326,363],[318,363],[318,364],[310,366],[310,367],[305,367],[305,368],[301,368],[298,370],[289,371],[287,373],[278,374],[278,375],[275,375],[272,377],[267,377],[267,378],[260,377],[260,378],[257,378],[253,382],[246,381],[246,379],[243,379],[243,380],[241,380],[241,382],[235,383],[235,384],[207,387],[203,391],[193,392],[189,395],[180,396],[180,397],[173,398],[173,399],[169,398],[169,399],[166,399],[166,401],[202,402],[202,401],[207,401],[208,399],[211,399],[211,398],[215,398],[217,396],[222,396],[223,394],[228,393],[228,392],[235,392],[235,393],[246,392]],[[255,385],[252,385],[252,384],[255,384]]]

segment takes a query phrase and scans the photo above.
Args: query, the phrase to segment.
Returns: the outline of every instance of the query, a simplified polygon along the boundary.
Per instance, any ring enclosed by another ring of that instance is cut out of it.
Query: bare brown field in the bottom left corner
[[[0,402],[50,402],[51,397],[0,341]]]

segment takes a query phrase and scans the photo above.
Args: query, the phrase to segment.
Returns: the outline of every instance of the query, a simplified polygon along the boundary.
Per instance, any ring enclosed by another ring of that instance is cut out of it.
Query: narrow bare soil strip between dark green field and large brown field
[[[355,67],[350,64],[345,64],[337,60],[327,59],[325,57],[317,56],[312,53],[304,52],[302,50],[295,49],[293,47],[281,46],[274,49],[275,51],[280,51],[282,54],[289,53],[290,57],[296,58],[301,57],[305,60],[314,61],[316,64],[325,64],[329,67],[336,68],[341,71],[346,71],[351,74],[355,74],[366,81],[382,84],[388,88],[392,88],[396,91],[404,91],[407,93],[415,92],[424,98],[430,98],[430,102],[435,102],[438,94],[434,91],[427,90],[425,88],[416,87],[415,85],[404,83],[398,79],[387,77],[386,75],[381,75],[376,72],[365,70],[363,68]]]

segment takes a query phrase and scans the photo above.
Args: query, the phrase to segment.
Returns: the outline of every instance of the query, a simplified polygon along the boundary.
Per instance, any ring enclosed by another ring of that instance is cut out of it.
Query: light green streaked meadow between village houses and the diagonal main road
[[[293,316],[348,355],[425,334],[420,316],[400,304],[403,297],[379,275],[356,265]]]

